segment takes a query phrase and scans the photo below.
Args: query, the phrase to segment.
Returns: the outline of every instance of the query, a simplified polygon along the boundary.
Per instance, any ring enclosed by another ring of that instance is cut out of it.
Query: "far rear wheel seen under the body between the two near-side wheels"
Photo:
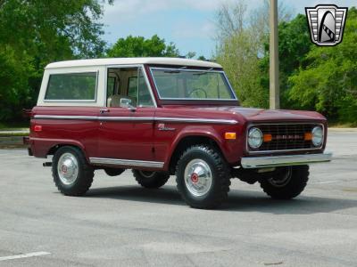
[[[170,178],[170,174],[165,172],[148,172],[133,170],[137,183],[148,189],[157,189],[162,187]]]

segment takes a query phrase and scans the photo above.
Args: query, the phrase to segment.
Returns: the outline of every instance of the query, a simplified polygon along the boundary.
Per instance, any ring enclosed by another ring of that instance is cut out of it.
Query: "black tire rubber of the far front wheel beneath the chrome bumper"
[[[274,177],[264,178],[260,181],[262,190],[275,199],[291,199],[295,198],[303,192],[309,180],[309,166],[287,166],[286,170],[290,168],[290,179],[286,184],[275,186],[271,181]]]

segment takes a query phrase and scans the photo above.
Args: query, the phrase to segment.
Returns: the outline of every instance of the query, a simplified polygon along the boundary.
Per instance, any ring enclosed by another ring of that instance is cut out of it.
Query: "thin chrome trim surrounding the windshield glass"
[[[231,99],[217,99],[217,98],[170,98],[170,97],[164,97],[162,98],[162,96],[160,95],[160,90],[158,89],[158,86],[156,84],[155,78],[154,78],[154,74],[153,74],[153,69],[165,69],[165,70],[179,70],[179,71],[204,71],[204,72],[219,72],[222,73],[223,76],[226,79],[226,82],[228,84],[230,93],[233,95],[234,98]],[[179,68],[162,68],[162,67],[150,67],[150,74],[151,77],[153,77],[153,81],[154,81],[154,85],[155,85],[155,90],[157,95],[159,96],[160,100],[163,101],[238,101],[237,99],[237,95],[236,93],[234,93],[234,90],[232,88],[232,85],[230,85],[229,81],[228,81],[228,77],[226,76],[226,73],[224,72],[224,70],[210,70],[210,69],[179,69]]]

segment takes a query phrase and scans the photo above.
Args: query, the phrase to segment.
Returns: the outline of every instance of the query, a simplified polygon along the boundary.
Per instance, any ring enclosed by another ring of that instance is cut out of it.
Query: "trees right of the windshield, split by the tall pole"
[[[266,4],[266,2],[265,2]],[[283,109],[317,110],[333,122],[357,124],[357,10],[350,8],[341,44],[311,43],[306,17],[293,20],[280,7],[278,25],[280,101]],[[245,2],[221,7],[217,61],[226,69],[244,106],[268,107],[269,27],[266,5],[251,18]]]

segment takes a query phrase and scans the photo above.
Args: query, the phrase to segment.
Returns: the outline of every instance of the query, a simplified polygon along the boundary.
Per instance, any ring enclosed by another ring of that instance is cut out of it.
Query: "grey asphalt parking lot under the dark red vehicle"
[[[0,266],[357,266],[357,131],[330,132],[328,150],[299,198],[235,179],[220,210],[186,206],[173,177],[145,190],[129,171],[63,197],[43,159],[0,150]]]

